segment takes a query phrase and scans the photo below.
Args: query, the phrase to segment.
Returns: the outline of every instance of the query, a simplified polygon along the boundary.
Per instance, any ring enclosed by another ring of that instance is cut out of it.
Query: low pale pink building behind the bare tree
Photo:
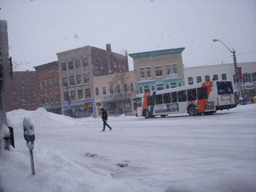
[[[93,84],[97,117],[101,115],[101,108],[106,108],[110,115],[135,114],[132,101],[137,94],[134,72],[95,77]]]

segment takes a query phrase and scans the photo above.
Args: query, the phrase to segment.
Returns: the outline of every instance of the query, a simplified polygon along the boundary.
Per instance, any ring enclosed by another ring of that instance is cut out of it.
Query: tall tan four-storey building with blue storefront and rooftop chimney
[[[57,53],[59,62],[61,111],[72,117],[96,117],[93,78],[129,71],[127,55],[84,46]]]

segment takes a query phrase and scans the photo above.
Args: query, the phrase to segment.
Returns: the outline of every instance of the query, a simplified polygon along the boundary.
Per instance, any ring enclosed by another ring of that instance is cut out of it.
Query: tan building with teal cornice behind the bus
[[[184,48],[130,54],[140,93],[182,86]]]

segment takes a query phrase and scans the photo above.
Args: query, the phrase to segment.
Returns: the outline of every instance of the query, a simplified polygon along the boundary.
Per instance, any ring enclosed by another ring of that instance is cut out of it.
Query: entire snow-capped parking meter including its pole
[[[23,119],[23,131],[24,131],[24,138],[26,140],[26,146],[29,149],[32,175],[35,175],[35,167],[34,167],[34,159],[33,159],[33,148],[35,147],[34,146],[35,131],[34,131],[34,125],[32,123],[32,120],[27,117]]]

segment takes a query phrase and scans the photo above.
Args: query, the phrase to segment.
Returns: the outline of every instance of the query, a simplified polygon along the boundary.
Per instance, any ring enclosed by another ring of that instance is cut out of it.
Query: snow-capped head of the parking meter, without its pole
[[[23,131],[24,131],[24,138],[26,140],[26,146],[28,148],[34,148],[34,141],[35,141],[35,131],[34,125],[32,120],[29,118],[23,119]]]

